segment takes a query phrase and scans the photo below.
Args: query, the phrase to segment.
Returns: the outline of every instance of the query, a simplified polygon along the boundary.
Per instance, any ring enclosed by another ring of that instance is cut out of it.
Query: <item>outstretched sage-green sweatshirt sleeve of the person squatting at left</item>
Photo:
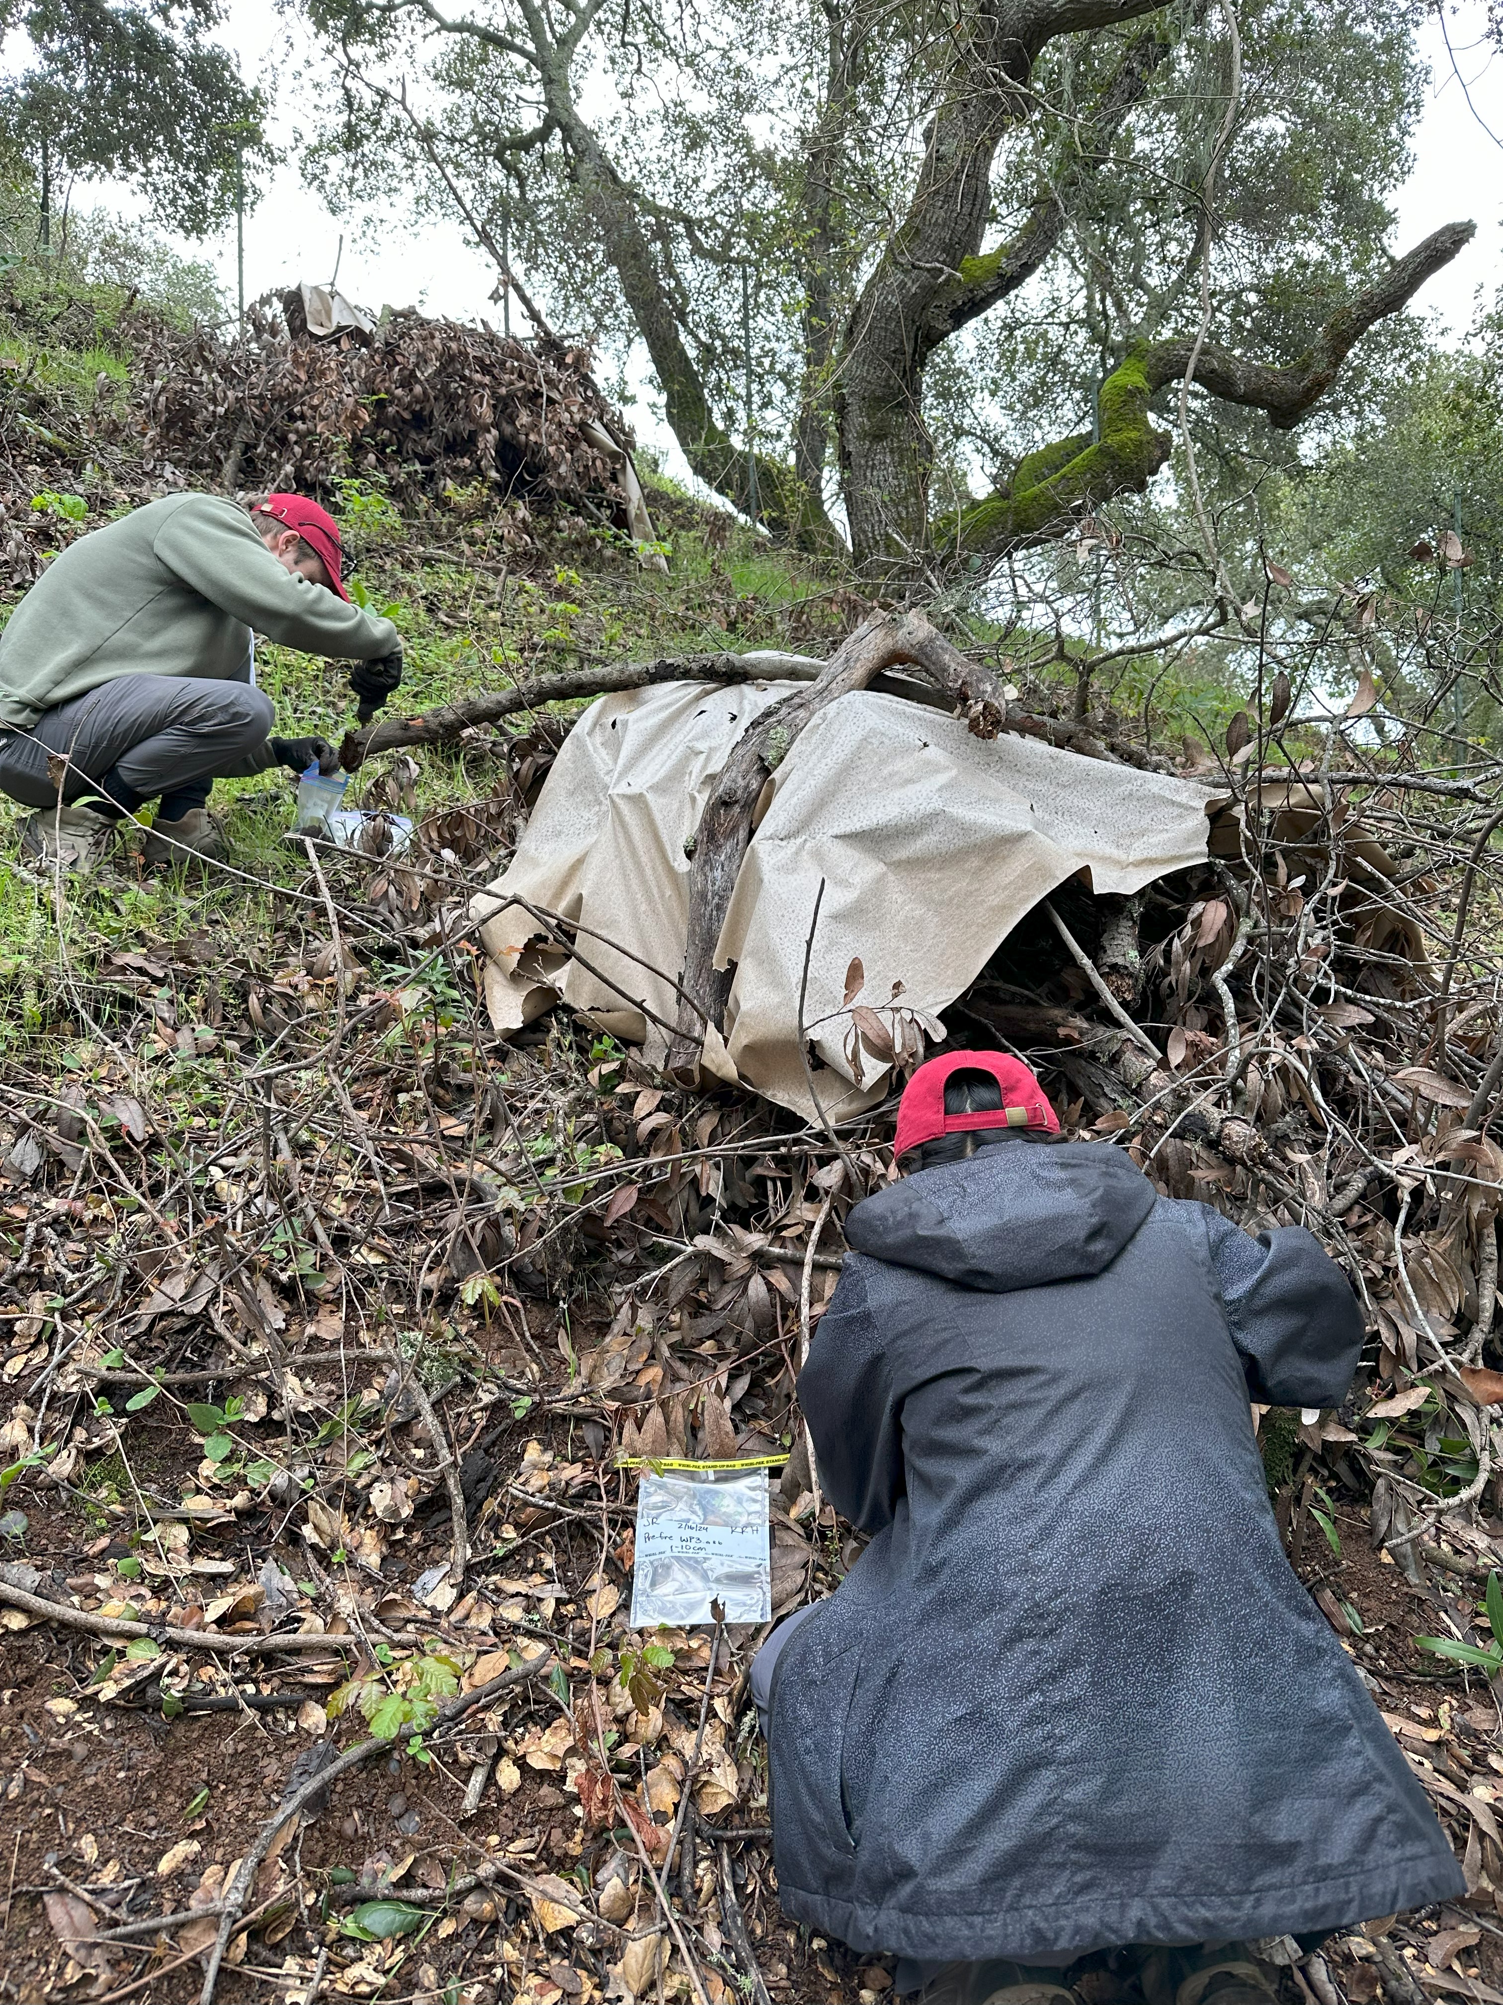
[[[210,606],[283,648],[375,662],[401,646],[391,620],[283,569],[232,501],[192,495],[162,523],[152,549]]]

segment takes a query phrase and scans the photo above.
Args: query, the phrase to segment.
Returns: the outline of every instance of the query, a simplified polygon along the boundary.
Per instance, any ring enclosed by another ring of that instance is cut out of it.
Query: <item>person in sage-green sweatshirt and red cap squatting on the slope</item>
[[[222,860],[214,780],[315,760],[323,738],[275,738],[255,636],[351,660],[369,722],[401,684],[391,620],[345,591],[339,525],[305,495],[253,509],[182,493],[70,543],[0,634],[0,792],[26,808],[22,850],[92,868],[156,800],[148,866]]]

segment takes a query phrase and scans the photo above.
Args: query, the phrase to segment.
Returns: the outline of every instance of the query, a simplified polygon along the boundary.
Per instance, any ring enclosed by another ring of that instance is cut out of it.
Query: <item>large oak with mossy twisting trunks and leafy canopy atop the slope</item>
[[[884,569],[1142,491],[1180,403],[1277,453],[1471,237],[1389,245],[1413,6],[303,4],[341,174],[505,215],[571,325],[645,343],[701,479],[749,509],[756,465],[774,529],[844,511]]]

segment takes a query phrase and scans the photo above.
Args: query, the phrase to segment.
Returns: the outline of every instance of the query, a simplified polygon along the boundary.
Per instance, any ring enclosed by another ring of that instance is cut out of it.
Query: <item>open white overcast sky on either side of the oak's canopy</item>
[[[1447,6],[1445,22],[1431,16],[1423,28],[1431,90],[1415,134],[1415,172],[1397,205],[1395,251],[1407,251],[1457,217],[1477,223],[1475,243],[1425,287],[1419,301],[1451,337],[1465,331],[1477,295],[1491,301],[1503,283],[1503,56],[1483,38],[1485,12],[1485,0],[1459,0]],[[226,40],[248,78],[261,76],[269,58],[279,58],[287,46],[285,26],[265,0],[230,0]],[[285,86],[277,140],[291,146],[295,126],[297,92]],[[110,207],[138,211],[128,190],[108,190],[108,200]],[[295,162],[275,176],[261,207],[246,219],[244,239],[246,299],[297,281],[327,281],[339,257],[341,291],[367,307],[419,305],[455,319],[497,317],[487,299],[495,271],[465,243],[457,225],[431,225],[421,233],[405,225],[351,229],[303,186]],[[232,299],[234,227],[214,243],[184,249],[214,265]],[[525,281],[527,273],[519,271],[519,277]],[[639,371],[633,377],[641,381]],[[673,463],[677,447],[653,403],[643,383],[643,399],[631,417],[643,443],[657,445]]]

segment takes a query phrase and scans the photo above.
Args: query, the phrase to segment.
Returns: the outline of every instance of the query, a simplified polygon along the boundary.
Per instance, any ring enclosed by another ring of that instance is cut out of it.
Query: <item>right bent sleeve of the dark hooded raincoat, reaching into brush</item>
[[[1250,1395],[1267,1406],[1341,1406],[1363,1349],[1363,1311],[1321,1241],[1303,1225],[1255,1239],[1212,1205],[1176,1211],[1198,1215]]]

